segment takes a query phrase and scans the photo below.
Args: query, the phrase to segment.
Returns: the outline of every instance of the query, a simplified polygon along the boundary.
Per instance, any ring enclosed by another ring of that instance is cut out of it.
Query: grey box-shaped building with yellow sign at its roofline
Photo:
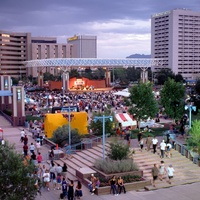
[[[97,37],[75,35],[67,39],[72,45],[72,58],[97,58]]]

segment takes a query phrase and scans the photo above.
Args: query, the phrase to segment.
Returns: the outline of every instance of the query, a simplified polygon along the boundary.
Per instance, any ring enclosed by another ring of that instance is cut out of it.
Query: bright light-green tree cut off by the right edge
[[[200,121],[194,120],[192,127],[189,130],[190,137],[187,139],[187,145],[189,149],[200,155]]]

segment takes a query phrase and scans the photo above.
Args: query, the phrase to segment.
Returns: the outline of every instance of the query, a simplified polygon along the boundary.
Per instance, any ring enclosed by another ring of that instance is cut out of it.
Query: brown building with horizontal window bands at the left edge
[[[30,33],[0,31],[0,75],[26,75],[26,67],[22,62],[30,60],[30,42]]]

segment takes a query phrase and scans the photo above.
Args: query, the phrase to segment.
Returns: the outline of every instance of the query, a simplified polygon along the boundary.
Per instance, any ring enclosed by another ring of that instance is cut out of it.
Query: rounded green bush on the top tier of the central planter
[[[110,143],[110,151],[108,157],[113,160],[127,159],[130,154],[130,149],[127,144],[122,142]]]

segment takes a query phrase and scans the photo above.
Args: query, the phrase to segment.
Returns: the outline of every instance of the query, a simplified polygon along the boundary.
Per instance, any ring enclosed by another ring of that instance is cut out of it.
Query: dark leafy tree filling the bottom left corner
[[[30,162],[23,162],[14,146],[5,142],[0,145],[0,199],[34,199],[37,194],[35,167]]]

